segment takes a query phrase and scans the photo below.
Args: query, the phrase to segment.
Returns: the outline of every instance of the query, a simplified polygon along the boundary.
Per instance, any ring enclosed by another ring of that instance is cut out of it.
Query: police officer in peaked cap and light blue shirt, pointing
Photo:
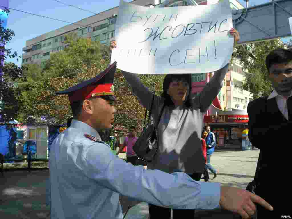
[[[213,209],[221,205],[244,218],[255,213],[253,202],[272,210],[246,190],[197,182],[185,173],[145,170],[115,156],[98,131],[112,128],[114,121],[116,64],[57,93],[69,95],[73,120],[50,150],[51,218],[121,219],[119,194],[167,208]]]

